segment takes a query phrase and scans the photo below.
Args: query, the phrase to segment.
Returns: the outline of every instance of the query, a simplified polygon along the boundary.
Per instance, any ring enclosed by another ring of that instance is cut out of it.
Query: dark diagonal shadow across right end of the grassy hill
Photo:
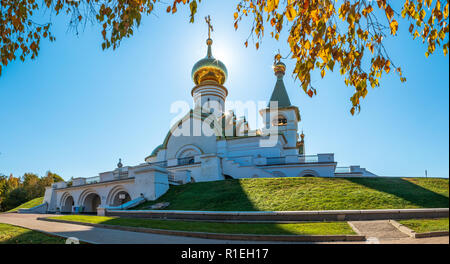
[[[348,181],[400,197],[418,207],[448,208],[448,197],[403,178],[347,178]]]

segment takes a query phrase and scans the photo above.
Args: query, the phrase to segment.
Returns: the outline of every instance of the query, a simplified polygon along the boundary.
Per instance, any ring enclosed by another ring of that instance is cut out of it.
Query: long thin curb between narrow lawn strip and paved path
[[[366,237],[361,235],[246,235],[246,234],[220,234],[220,233],[206,233],[206,232],[187,232],[187,231],[175,231],[164,229],[153,229],[145,227],[128,227],[128,226],[115,226],[104,224],[92,224],[82,223],[76,221],[48,219],[45,217],[39,217],[37,220],[59,222],[67,224],[86,225],[100,228],[116,229],[131,232],[151,233],[160,235],[175,235],[186,237],[197,237],[207,239],[220,239],[220,240],[247,240],[247,241],[278,241],[278,242],[330,242],[330,241],[365,241]]]

